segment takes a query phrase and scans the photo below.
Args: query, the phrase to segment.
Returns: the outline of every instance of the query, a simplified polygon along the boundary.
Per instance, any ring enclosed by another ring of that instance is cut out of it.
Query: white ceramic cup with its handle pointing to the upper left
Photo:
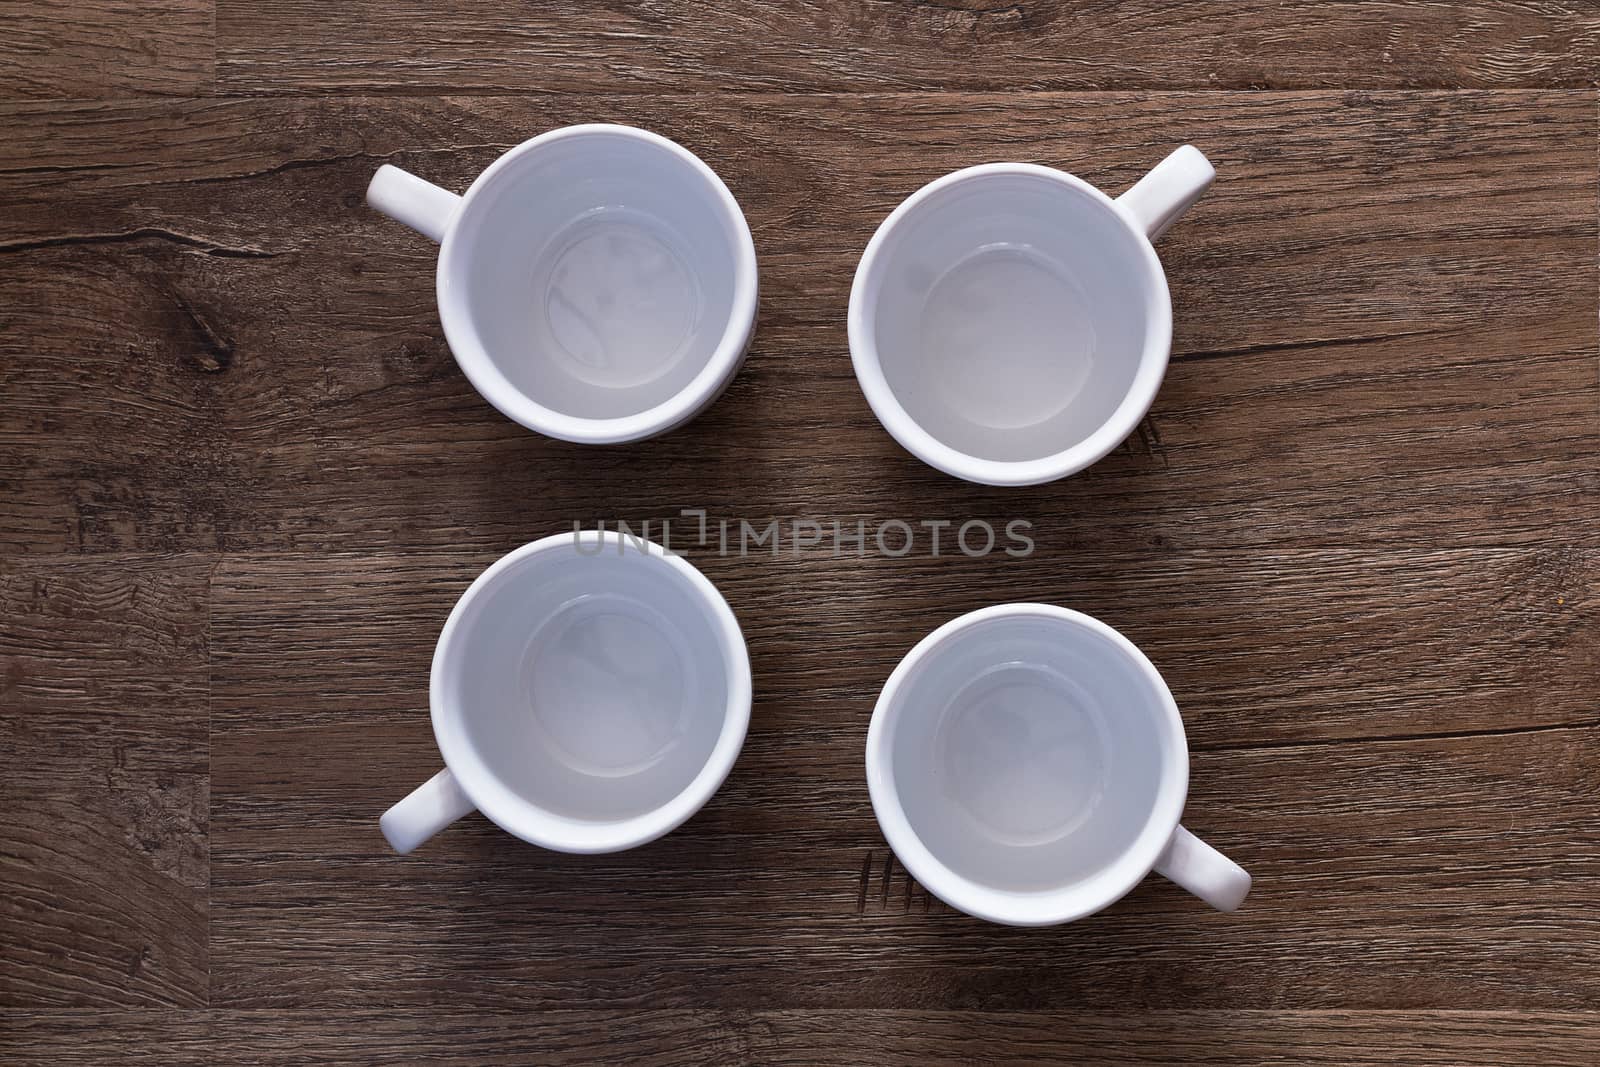
[[[502,414],[568,442],[680,426],[733,381],[755,331],[755,245],[688,149],[566,126],[499,157],[461,197],[384,165],[366,202],[432,237],[438,318]]]

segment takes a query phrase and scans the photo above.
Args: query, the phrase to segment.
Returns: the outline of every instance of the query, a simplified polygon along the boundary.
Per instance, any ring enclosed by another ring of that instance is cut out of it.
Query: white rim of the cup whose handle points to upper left
[[[712,350],[710,358],[706,360],[706,365],[701,366],[699,373],[690,379],[683,389],[672,394],[661,403],[653,408],[646,408],[645,411],[635,411],[634,414],[610,419],[590,419],[566,414],[565,411],[546,406],[517,389],[499,370],[499,366],[494,365],[494,360],[490,357],[483,341],[478,338],[478,331],[472,325],[470,314],[467,312],[467,283],[462,274],[466,264],[464,258],[467,253],[462,250],[461,242],[456,240],[456,235],[462,232],[462,221],[474,211],[474,205],[478,202],[482,192],[499,181],[501,174],[518,166],[523,160],[550,144],[581,138],[624,138],[643,141],[664,149],[680,162],[686,163],[710,189],[734,243],[733,302],[728,310],[728,323],[723,328],[722,338],[717,341],[717,347]],[[622,442],[637,442],[662,434],[694,418],[701,408],[717,397],[720,389],[733,378],[733,374],[739,370],[739,363],[744,360],[746,347],[749,346],[755,323],[757,288],[755,240],[750,237],[750,226],[744,218],[744,211],[739,210],[739,202],[734,200],[726,182],[723,182],[717,171],[714,171],[702,158],[685,149],[677,141],[669,141],[667,138],[648,130],[622,126],[618,123],[581,123],[576,126],[549,130],[536,138],[523,141],[514,149],[509,149],[504,155],[490,163],[461,195],[461,206],[450,221],[445,240],[440,242],[438,270],[435,278],[438,318],[445,328],[445,339],[448,341],[450,350],[456,357],[456,363],[461,366],[461,371],[467,376],[467,381],[472,382],[472,387],[477,389],[501,414],[514,422],[520,422],[530,430],[536,430],[546,437],[555,437],[563,442],[576,442],[579,445],[616,445]]]

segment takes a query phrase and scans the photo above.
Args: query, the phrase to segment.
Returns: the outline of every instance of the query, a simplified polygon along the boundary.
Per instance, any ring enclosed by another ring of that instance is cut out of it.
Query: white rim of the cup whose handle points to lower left
[[[707,800],[722,787],[733,769],[744,737],[750,726],[750,657],[744,645],[744,632],[733,614],[733,608],[693,563],[678,555],[667,553],[654,541],[635,537],[622,544],[622,536],[610,530],[584,530],[578,533],[552,534],[507,552],[478,574],[450,611],[440,630],[438,643],[434,646],[434,662],[429,672],[429,712],[434,723],[434,739],[445,766],[451,769],[462,792],[474,806],[494,825],[531,845],[539,845],[560,853],[616,853],[637,845],[645,845],[658,837],[675,830],[690,816],[699,811]],[[717,744],[701,766],[699,773],[672,800],[645,814],[627,819],[600,821],[558,816],[541,808],[506,785],[496,776],[477,749],[467,739],[462,726],[462,710],[446,696],[448,678],[456,656],[456,630],[470,606],[483,598],[490,589],[499,584],[501,577],[525,560],[579,544],[602,545],[600,555],[611,552],[637,552],[640,547],[664,566],[675,569],[685,577],[717,629],[718,646],[723,654],[726,702],[723,705],[722,729]]]

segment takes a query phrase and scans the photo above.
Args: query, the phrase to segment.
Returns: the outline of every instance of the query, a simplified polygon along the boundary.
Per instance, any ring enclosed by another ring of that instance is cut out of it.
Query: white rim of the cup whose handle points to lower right
[[[944,864],[923,845],[899,801],[893,773],[893,731],[899,715],[896,697],[907,678],[928,656],[947,645],[957,633],[1003,617],[1034,617],[1066,622],[1107,640],[1139,669],[1154,686],[1165,710],[1168,729],[1162,752],[1162,781],[1157,785],[1150,814],[1134,843],[1082,883],[1037,891],[1000,889],[984,885]],[[978,918],[1006,926],[1053,926],[1093,915],[1115,904],[1154,870],[1162,849],[1178,830],[1184,800],[1189,793],[1189,747],[1178,702],[1155,664],[1120,632],[1099,619],[1043,603],[1008,603],[970,611],[938,627],[906,653],[906,657],[883,683],[867,726],[867,793],[885,840],[907,872],[931,894],[950,907]],[[1096,889],[1093,894],[1088,889]]]

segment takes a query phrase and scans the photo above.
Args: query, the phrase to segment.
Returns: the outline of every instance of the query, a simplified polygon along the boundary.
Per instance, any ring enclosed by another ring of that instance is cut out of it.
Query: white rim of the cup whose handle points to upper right
[[[1152,286],[1154,299],[1149,304],[1149,314],[1146,318],[1144,350],[1139,354],[1139,368],[1134,371],[1133,382],[1128,386],[1128,392],[1123,395],[1122,403],[1117,405],[1117,410],[1112,411],[1109,419],[1106,419],[1093,434],[1085,437],[1077,445],[1050,456],[1038,456],[1034,459],[982,459],[952,448],[936,438],[933,434],[925,430],[910,416],[910,413],[906,411],[899,398],[894,397],[894,390],[890,387],[888,378],[883,374],[882,362],[878,360],[877,336],[874,331],[877,309],[869,307],[867,304],[867,288],[872,283],[872,274],[890,235],[910,216],[910,213],[917,211],[920,205],[952,186],[1018,174],[1042,178],[1058,186],[1072,189],[1074,192],[1083,194],[1088,202],[1094,203],[1101,210],[1110,211],[1112,216],[1122,222],[1126,232],[1134,238],[1133,246],[1139,250],[1139,261]],[[917,456],[928,466],[955,475],[957,478],[965,478],[966,482],[976,482],[979,485],[1024,486],[1054,482],[1056,478],[1077,474],[1078,470],[1104,459],[1114,448],[1117,448],[1117,445],[1133,434],[1139,419],[1146,416],[1150,405],[1155,402],[1155,394],[1160,390],[1162,379],[1166,376],[1166,365],[1171,358],[1173,346],[1173,302],[1171,293],[1166,286],[1166,272],[1162,269],[1162,261],[1155,254],[1155,246],[1150,245],[1150,238],[1146,235],[1138,221],[1125,208],[1118,206],[1114,198],[1107,197],[1082,178],[1053,166],[1042,166],[1038,163],[979,163],[978,166],[966,166],[933,179],[902,200],[888,214],[888,218],[878,224],[878,229],[872,234],[872,240],[867,242],[866,251],[861,253],[861,262],[856,266],[854,283],[850,288],[848,334],[850,362],[856,370],[856,381],[861,384],[861,392],[866,394],[867,405],[878,418],[878,422],[882,422],[883,429],[886,429],[890,435],[899,442],[901,448]]]

